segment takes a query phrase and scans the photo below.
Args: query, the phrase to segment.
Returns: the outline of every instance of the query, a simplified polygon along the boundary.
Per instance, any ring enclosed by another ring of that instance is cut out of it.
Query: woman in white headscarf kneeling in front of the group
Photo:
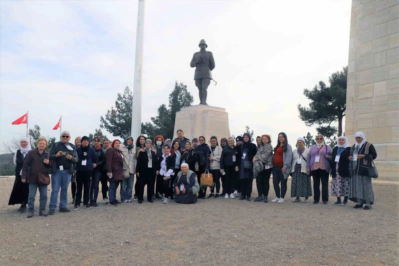
[[[173,182],[175,187],[175,201],[177,203],[196,203],[197,193],[200,191],[196,173],[189,169],[187,163],[181,165],[180,171]]]

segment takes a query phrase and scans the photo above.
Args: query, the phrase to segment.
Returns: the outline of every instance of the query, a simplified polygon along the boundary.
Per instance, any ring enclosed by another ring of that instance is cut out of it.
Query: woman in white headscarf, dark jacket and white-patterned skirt
[[[349,194],[349,153],[351,147],[347,137],[341,136],[338,138],[338,144],[333,149],[333,157],[331,160],[331,175],[333,180],[331,182],[331,196],[337,197],[334,205],[347,205]],[[344,202],[341,202],[341,197],[344,197]]]

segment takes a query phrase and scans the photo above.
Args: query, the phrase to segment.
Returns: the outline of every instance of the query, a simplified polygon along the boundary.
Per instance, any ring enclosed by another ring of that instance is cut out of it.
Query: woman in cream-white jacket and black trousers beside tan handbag
[[[210,157],[209,157],[209,173],[213,175],[214,186],[210,189],[210,194],[208,198],[219,198],[220,195],[220,156],[222,148],[217,143],[217,138],[215,136],[210,137]],[[216,194],[213,194],[214,187],[216,187]],[[206,188],[205,188],[206,194]]]

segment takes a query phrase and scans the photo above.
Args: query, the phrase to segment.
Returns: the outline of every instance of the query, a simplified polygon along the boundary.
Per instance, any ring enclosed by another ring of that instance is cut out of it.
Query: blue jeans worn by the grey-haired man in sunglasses
[[[68,186],[71,182],[72,174],[69,173],[69,169],[57,170],[57,172],[51,174],[51,197],[49,209],[55,209],[57,207],[58,192],[61,189],[61,195],[59,199],[59,208],[65,208],[68,200]]]

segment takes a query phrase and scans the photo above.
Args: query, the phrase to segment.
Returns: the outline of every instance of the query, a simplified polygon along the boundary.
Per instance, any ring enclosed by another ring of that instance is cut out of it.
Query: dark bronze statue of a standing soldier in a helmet
[[[205,50],[208,45],[204,39],[200,40],[199,46],[200,51],[194,53],[190,66],[196,68],[194,80],[196,81],[196,86],[200,91],[200,104],[207,105],[206,90],[209,86],[210,80],[212,79],[212,73],[210,71],[215,68],[215,61],[213,60],[212,52]]]

